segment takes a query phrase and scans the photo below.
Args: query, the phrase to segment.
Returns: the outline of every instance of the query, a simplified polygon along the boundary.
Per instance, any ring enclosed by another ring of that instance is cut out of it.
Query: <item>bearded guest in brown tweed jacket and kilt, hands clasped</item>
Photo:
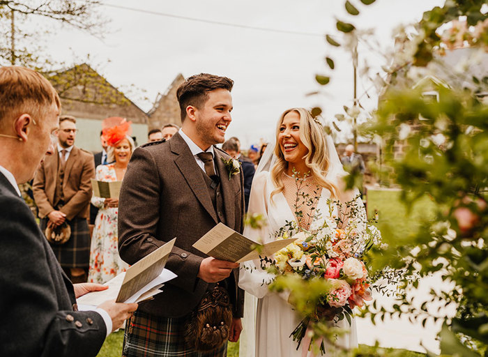
[[[40,164],[33,182],[40,227],[69,225],[66,243],[50,243],[61,267],[75,282],[86,282],[90,259],[88,227],[91,181],[95,178],[93,154],[75,146],[77,128],[73,116],[59,118],[56,155]]]

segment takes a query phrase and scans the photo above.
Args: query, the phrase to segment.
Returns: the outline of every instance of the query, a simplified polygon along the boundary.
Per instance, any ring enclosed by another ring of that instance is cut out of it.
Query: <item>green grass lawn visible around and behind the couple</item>
[[[411,213],[407,214],[406,208],[399,202],[399,191],[395,190],[368,190],[367,191],[367,213],[369,218],[374,217],[374,212],[379,215],[379,228],[387,232],[390,238],[402,239],[402,236],[410,234],[418,227],[420,218],[428,218],[432,215],[432,202],[428,197],[416,203]],[[383,232],[383,238],[385,233]],[[105,344],[100,350],[100,357],[120,357],[122,355],[123,331],[112,333],[107,337]],[[239,344],[229,343],[227,356],[239,356]],[[353,355],[356,357],[420,357],[425,354],[406,351],[402,349],[379,349],[360,345],[358,351]],[[279,356],[276,356],[279,357]]]

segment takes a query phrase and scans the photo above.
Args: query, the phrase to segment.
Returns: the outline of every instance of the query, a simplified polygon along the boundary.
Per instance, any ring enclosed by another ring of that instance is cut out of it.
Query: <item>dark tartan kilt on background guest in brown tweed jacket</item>
[[[43,234],[49,218],[40,220]],[[88,268],[90,262],[90,231],[86,218],[73,218],[68,221],[71,227],[70,239],[64,244],[52,244],[52,251],[63,268]]]

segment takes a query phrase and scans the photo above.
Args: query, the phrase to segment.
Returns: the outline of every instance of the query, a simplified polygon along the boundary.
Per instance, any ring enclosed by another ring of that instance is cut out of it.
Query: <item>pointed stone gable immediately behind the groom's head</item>
[[[180,107],[176,100],[176,89],[185,82],[185,78],[179,73],[166,89],[165,93],[159,93],[153,108],[148,112],[148,129],[162,128],[165,124],[181,126]]]

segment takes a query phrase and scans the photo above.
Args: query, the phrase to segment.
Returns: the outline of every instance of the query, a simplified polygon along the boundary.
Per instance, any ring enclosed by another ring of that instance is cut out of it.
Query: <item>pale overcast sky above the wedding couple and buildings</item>
[[[131,84],[146,90],[153,101],[164,92],[178,73],[188,77],[213,73],[234,79],[233,121],[227,137],[237,136],[245,146],[261,137],[273,137],[278,116],[289,107],[320,105],[326,118],[351,105],[353,80],[351,56],[331,47],[323,34],[334,31],[335,18],[352,20],[358,29],[374,29],[381,51],[392,47],[392,30],[400,24],[418,22],[422,13],[443,0],[377,0],[370,6],[358,4],[360,15],[351,19],[343,0],[178,0],[105,1],[107,4],[146,10],[141,13],[110,6],[100,12],[111,22],[103,40],[64,27],[47,43],[47,50],[60,61],[73,62],[73,54],[90,54],[100,74],[126,88]],[[261,31],[222,24],[209,24],[165,17],[156,13],[192,17],[293,33]],[[381,73],[385,64],[378,51],[360,46],[360,66],[367,59],[370,73]],[[325,56],[335,60],[328,70]],[[321,86],[317,73],[331,74],[328,86],[319,96],[306,96]],[[358,95],[371,83],[359,79]],[[361,103],[374,109],[375,89]],[[151,103],[131,97],[145,111]]]

